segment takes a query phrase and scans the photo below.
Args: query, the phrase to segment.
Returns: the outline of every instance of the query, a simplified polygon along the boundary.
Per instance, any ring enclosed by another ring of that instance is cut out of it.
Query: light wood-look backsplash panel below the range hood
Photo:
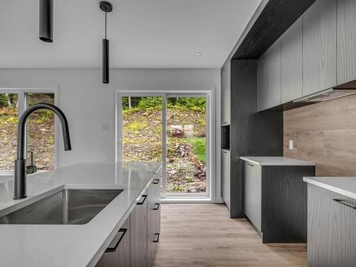
[[[283,112],[283,155],[315,162],[318,176],[356,176],[356,95]]]

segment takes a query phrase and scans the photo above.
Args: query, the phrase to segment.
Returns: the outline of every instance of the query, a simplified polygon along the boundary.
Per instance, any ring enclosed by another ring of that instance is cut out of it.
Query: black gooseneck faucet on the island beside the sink
[[[20,117],[19,125],[17,126],[17,159],[15,159],[15,178],[14,178],[14,199],[26,198],[26,150],[25,150],[25,132],[26,120],[32,112],[36,110],[47,109],[52,110],[61,120],[63,131],[64,150],[71,150],[68,121],[62,110],[55,105],[47,103],[38,103],[27,108]]]

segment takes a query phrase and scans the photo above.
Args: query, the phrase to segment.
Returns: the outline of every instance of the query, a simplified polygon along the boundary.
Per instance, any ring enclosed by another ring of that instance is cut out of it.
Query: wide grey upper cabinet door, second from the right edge
[[[303,14],[303,95],[336,84],[336,0],[317,0]]]

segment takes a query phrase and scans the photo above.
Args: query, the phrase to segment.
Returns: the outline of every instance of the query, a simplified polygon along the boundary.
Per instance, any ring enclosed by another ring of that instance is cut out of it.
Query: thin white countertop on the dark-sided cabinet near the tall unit
[[[260,166],[315,166],[314,162],[305,162],[300,159],[290,159],[289,157],[240,157],[246,162]]]

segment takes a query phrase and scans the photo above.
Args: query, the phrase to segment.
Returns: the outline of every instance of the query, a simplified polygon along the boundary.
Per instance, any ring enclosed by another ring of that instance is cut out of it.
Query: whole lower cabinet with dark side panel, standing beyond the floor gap
[[[315,166],[259,166],[244,161],[243,210],[263,243],[307,242],[307,184]]]

